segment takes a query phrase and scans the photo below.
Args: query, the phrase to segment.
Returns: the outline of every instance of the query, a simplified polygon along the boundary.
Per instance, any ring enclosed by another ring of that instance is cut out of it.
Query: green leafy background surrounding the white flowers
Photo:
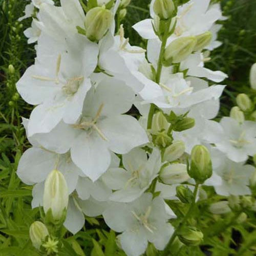
[[[0,0],[0,256],[41,255],[29,240],[29,226],[42,216],[38,208],[31,209],[32,187],[23,184],[15,173],[20,156],[30,146],[21,117],[29,117],[32,107],[20,99],[15,88],[16,81],[35,57],[34,46],[27,45],[27,39],[23,35],[31,21],[17,22],[17,18],[23,16],[27,3],[25,0]],[[149,16],[149,3],[150,0],[132,0],[127,7],[123,23],[125,34],[130,37],[133,45],[146,45],[131,27]],[[250,66],[256,62],[256,1],[225,0],[221,4],[224,15],[229,17],[223,23],[219,35],[223,45],[212,52],[207,66],[222,70],[229,76],[225,81],[227,88],[222,96],[220,111],[220,116],[227,116],[231,107],[236,104],[238,93],[256,96],[248,84]],[[13,65],[14,72],[8,69],[9,65]],[[241,212],[213,216],[207,211],[208,204],[221,198],[211,190],[207,193],[210,197],[199,204],[198,217],[191,220],[204,231],[203,246],[186,247],[179,255],[255,255],[254,212],[246,211],[247,221],[239,218]],[[182,215],[182,205],[174,203],[173,207],[177,215]],[[201,212],[203,215],[200,215]],[[124,255],[115,245],[116,234],[100,218],[87,218],[83,230],[75,237],[63,230],[63,237],[64,249],[59,255]],[[153,247],[149,247],[146,255],[158,254]],[[173,255],[177,255],[175,250]]]

